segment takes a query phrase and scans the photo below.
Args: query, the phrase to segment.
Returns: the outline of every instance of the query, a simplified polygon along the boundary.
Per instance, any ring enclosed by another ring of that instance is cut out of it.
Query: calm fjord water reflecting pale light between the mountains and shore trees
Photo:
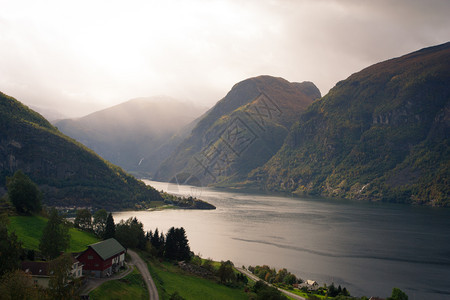
[[[145,230],[184,227],[191,250],[237,266],[267,264],[356,296],[450,299],[450,210],[229,192],[146,181],[216,210],[117,212]]]

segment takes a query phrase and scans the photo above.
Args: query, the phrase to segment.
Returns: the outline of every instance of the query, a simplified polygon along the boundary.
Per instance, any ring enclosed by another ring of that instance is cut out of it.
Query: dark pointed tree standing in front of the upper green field
[[[69,227],[58,214],[58,211],[53,208],[42,233],[39,250],[44,257],[54,259],[69,247],[69,242]]]

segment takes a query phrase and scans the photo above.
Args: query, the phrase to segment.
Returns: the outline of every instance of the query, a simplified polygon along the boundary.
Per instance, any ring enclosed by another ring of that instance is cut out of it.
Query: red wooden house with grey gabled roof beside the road
[[[108,277],[124,265],[125,248],[111,238],[89,245],[77,259],[83,264],[83,275]]]

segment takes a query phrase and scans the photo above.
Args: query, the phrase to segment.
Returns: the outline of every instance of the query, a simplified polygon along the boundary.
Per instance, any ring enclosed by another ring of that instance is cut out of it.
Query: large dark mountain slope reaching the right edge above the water
[[[450,206],[450,43],[351,75],[249,180],[268,190]]]

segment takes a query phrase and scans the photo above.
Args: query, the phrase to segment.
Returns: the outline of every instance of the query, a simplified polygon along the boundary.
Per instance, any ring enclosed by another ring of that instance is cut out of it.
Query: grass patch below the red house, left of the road
[[[89,293],[89,299],[148,299],[148,291],[141,274],[134,268],[132,273],[122,279],[103,283]]]

